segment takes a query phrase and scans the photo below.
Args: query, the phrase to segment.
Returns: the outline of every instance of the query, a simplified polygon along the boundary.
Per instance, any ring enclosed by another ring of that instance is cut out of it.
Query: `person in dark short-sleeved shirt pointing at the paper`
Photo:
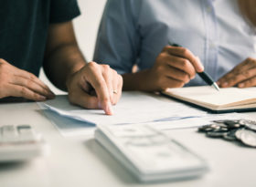
[[[71,103],[112,114],[123,79],[108,65],[86,63],[72,26],[79,15],[76,0],[0,2],[0,99],[54,98],[37,78],[43,67],[55,86],[69,92]]]

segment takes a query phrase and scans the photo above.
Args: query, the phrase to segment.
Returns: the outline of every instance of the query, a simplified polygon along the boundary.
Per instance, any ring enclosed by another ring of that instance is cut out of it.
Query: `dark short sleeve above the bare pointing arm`
[[[77,0],[51,0],[50,23],[61,23],[80,16],[80,8]]]

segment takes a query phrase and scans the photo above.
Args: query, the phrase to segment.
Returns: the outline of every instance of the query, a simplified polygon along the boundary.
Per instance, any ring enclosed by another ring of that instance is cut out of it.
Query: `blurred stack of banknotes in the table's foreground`
[[[101,125],[95,139],[141,182],[194,178],[208,171],[197,154],[147,125]]]

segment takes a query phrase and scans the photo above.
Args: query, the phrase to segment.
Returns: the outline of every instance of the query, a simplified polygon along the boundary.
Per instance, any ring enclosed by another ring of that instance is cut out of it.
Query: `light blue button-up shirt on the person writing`
[[[256,57],[255,29],[236,0],[108,0],[94,60],[120,74],[133,65],[152,68],[163,47],[187,47],[218,80],[247,57]],[[204,85],[198,76],[187,85]]]

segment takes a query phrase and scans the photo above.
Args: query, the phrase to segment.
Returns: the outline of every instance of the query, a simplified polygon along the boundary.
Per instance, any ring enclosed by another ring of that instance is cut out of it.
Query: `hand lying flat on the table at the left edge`
[[[0,59],[0,99],[10,96],[37,101],[55,97],[35,75]]]

